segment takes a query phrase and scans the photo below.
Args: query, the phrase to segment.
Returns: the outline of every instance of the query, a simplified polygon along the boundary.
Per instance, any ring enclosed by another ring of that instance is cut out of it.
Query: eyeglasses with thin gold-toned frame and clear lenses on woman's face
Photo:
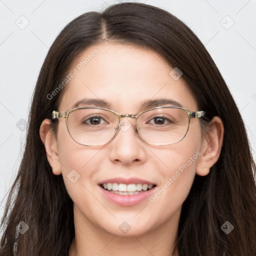
[[[157,106],[136,115],[102,107],[77,107],[64,113],[52,111],[52,119],[65,118],[71,138],[85,146],[104,145],[117,135],[120,128],[126,131],[131,125],[129,122],[127,126],[121,124],[123,117],[136,119],[135,132],[147,144],[170,145],[184,138],[191,118],[204,115],[204,111],[190,112],[176,106]]]

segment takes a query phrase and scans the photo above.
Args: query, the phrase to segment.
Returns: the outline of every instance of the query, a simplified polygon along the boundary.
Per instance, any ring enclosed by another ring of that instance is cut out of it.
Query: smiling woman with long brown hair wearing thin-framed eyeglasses
[[[75,18],[49,49],[29,117],[0,255],[256,254],[244,124],[170,13],[129,2]]]

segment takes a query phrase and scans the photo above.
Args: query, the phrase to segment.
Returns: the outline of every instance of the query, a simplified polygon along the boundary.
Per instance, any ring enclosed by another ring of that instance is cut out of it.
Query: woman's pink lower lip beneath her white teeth
[[[156,186],[152,187],[149,190],[140,192],[138,194],[115,194],[105,190],[103,187],[99,185],[100,190],[102,191],[103,195],[111,202],[121,205],[121,206],[132,206],[135,204],[140,203],[141,201],[148,198],[155,190]]]

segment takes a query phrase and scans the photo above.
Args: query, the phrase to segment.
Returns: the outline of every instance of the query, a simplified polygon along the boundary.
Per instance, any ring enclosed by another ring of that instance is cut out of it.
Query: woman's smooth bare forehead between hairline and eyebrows
[[[144,101],[163,98],[196,110],[184,81],[170,75],[172,69],[148,48],[117,42],[92,45],[74,59],[58,110],[79,106],[75,103],[84,98],[105,101],[97,106],[119,112],[135,113]]]

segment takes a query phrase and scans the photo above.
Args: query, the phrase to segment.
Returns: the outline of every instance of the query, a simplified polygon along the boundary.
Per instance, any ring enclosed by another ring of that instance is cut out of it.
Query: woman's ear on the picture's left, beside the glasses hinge
[[[55,175],[61,174],[61,165],[58,159],[57,140],[50,128],[50,119],[44,119],[40,125],[40,138],[44,144],[47,160]]]

